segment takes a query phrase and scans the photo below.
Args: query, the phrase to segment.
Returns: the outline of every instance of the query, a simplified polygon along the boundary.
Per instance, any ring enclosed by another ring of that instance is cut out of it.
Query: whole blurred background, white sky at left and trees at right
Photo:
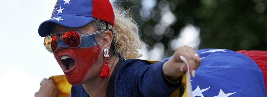
[[[39,25],[50,19],[56,1],[1,0],[2,96],[34,96],[43,78],[63,74],[38,34]],[[141,39],[149,45],[139,49],[143,54],[140,59],[161,60],[183,45],[195,50],[267,50],[266,0],[110,2],[132,11]]]

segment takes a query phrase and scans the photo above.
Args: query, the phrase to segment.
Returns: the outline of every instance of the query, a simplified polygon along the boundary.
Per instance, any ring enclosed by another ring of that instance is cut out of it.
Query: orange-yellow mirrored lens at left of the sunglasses
[[[49,52],[51,53],[55,52],[57,49],[57,36],[55,35],[46,36],[45,46]]]

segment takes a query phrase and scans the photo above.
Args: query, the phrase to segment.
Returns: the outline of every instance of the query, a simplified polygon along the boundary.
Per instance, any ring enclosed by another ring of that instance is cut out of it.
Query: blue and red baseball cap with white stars
[[[78,28],[95,18],[114,26],[114,12],[108,0],[57,0],[52,17],[41,23],[38,33],[45,37],[50,34],[54,23]]]

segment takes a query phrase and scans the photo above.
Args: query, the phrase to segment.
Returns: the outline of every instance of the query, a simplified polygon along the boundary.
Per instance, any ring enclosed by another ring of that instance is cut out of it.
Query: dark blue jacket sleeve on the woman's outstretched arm
[[[151,64],[138,59],[124,62],[117,75],[122,96],[166,97],[177,90],[181,81],[177,84],[168,83],[162,73],[163,63]]]

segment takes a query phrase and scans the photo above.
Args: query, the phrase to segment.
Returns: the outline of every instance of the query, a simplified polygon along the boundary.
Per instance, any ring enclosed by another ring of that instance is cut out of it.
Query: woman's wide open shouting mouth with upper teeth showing
[[[65,71],[72,69],[75,65],[75,60],[70,58],[69,56],[65,55],[60,58],[62,63],[62,69]]]

